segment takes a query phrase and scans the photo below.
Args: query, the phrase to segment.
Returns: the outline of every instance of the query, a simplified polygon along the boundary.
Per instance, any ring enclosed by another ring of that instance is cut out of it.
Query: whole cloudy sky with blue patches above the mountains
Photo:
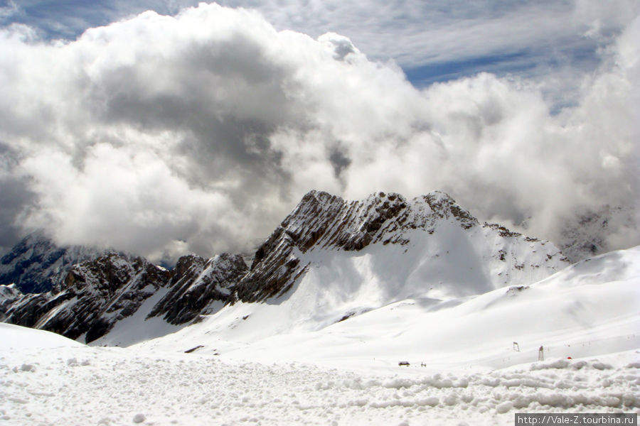
[[[0,2],[0,251],[247,251],[305,192],[640,244],[640,6]],[[564,233],[564,234],[563,234]]]

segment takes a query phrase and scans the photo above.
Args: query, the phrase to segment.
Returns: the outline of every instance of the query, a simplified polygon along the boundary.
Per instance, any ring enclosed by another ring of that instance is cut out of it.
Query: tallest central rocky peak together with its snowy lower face
[[[242,327],[271,318],[274,334],[321,329],[410,297],[527,285],[568,265],[553,244],[480,224],[443,192],[348,202],[312,191],[257,250],[237,288],[252,306],[235,316],[247,317]]]

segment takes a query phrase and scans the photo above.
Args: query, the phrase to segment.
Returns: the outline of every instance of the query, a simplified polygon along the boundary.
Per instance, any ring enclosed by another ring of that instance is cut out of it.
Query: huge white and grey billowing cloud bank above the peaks
[[[70,42],[14,24],[0,31],[2,227],[170,260],[250,249],[312,188],[442,189],[561,242],[567,223],[616,209],[603,244],[639,244],[639,28],[552,114],[538,80],[419,90],[343,35],[215,4]]]

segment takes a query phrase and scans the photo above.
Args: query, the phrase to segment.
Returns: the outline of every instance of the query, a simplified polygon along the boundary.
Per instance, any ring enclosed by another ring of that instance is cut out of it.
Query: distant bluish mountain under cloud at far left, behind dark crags
[[[63,283],[75,263],[100,253],[100,249],[87,246],[58,246],[41,232],[34,232],[0,258],[0,285],[14,283],[22,293],[43,293]]]

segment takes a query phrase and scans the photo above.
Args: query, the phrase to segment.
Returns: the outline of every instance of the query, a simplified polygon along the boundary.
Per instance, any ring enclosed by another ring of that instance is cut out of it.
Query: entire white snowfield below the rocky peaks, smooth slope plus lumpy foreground
[[[221,321],[268,302],[236,302],[125,349],[0,324],[0,419],[489,426],[513,425],[515,413],[637,413],[639,289],[636,247],[528,286],[400,300],[316,332],[251,342],[249,318],[237,318],[233,334]]]

